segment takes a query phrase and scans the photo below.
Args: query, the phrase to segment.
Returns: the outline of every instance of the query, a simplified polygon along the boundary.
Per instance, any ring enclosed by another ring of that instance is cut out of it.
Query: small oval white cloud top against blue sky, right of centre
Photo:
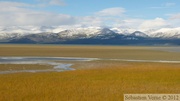
[[[96,12],[95,14],[98,16],[121,16],[125,12],[126,11],[124,8],[114,7],[101,10],[99,12]]]

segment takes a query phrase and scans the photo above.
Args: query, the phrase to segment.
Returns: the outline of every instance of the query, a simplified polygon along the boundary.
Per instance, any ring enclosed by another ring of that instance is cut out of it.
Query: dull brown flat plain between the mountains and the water
[[[0,56],[60,56],[180,60],[180,53],[136,46],[0,45]]]

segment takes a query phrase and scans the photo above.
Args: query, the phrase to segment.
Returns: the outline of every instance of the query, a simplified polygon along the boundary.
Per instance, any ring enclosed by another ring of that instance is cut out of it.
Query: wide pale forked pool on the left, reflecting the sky
[[[0,64],[48,64],[54,66],[52,69],[44,70],[8,70],[0,71],[0,74],[18,72],[48,72],[74,70],[70,68],[72,64],[60,63],[61,61],[91,61],[94,58],[67,58],[67,57],[0,57]]]

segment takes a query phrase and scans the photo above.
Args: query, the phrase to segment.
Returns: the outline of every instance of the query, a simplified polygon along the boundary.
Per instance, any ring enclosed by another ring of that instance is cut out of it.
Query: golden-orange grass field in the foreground
[[[0,75],[0,100],[123,101],[126,93],[180,91],[180,64],[98,61],[93,65],[67,72]]]

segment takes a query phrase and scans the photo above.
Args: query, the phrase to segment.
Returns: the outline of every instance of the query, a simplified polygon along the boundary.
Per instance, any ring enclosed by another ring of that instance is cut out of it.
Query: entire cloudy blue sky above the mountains
[[[0,0],[0,26],[180,27],[180,0]]]

